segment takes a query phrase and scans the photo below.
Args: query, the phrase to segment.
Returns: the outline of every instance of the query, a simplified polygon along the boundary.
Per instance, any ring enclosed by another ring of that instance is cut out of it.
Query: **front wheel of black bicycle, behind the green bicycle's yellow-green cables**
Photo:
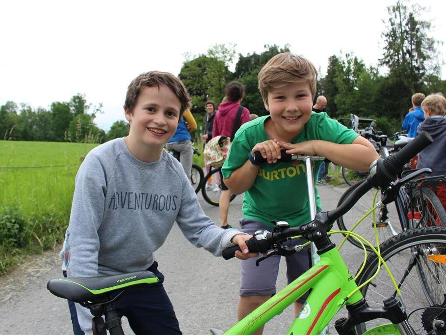
[[[340,206],[341,203],[344,202],[345,199],[361,184],[362,182],[359,182],[350,186],[341,195],[338,206]],[[340,230],[350,230],[353,225],[372,208],[373,195],[375,191],[376,189],[371,189],[368,191],[353,205],[351,210],[337,220]],[[379,200],[380,195],[378,194],[375,201],[378,202]],[[375,211],[375,216],[380,243],[403,231],[394,202],[377,209]],[[359,225],[353,231],[365,237],[374,247],[376,247],[372,214],[370,214],[363,222],[359,223]],[[355,247],[362,249],[362,245],[353,237],[347,237],[347,241]],[[371,248],[367,245],[366,249],[367,251],[371,251]]]

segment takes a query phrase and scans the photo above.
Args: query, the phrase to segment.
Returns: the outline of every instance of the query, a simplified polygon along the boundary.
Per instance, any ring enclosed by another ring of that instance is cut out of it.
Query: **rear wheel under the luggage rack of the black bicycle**
[[[423,187],[414,190],[413,206],[414,211],[421,214],[420,220],[415,223],[415,228],[446,226],[445,208],[430,188]]]

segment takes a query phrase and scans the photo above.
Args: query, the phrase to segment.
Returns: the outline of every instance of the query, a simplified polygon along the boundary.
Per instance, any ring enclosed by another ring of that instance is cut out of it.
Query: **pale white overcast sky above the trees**
[[[82,93],[103,103],[96,124],[124,120],[128,84],[160,70],[178,75],[184,54],[205,54],[216,43],[262,53],[290,45],[325,75],[331,55],[353,52],[367,65],[382,55],[387,6],[396,0],[1,1],[0,105],[12,100],[48,108]],[[431,37],[446,39],[446,1],[430,8]],[[446,42],[446,41],[445,41]],[[446,58],[446,46],[440,46]],[[233,69],[232,69],[233,70]],[[443,66],[442,78],[446,79]]]

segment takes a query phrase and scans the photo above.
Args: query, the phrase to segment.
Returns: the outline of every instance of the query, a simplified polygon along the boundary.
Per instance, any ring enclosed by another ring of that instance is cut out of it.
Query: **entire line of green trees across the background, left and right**
[[[380,130],[392,134],[400,130],[412,94],[446,93],[436,50],[441,42],[429,36],[430,22],[420,19],[423,11],[418,4],[406,6],[402,0],[388,7],[389,18],[382,32],[383,54],[377,67],[367,66],[353,52],[329,57],[327,72],[319,74],[316,96],[327,98],[327,112],[332,118],[350,113],[374,118]],[[199,125],[204,125],[206,101],[218,105],[225,85],[231,81],[245,85],[243,106],[258,115],[267,114],[257,75],[272,56],[289,52],[290,46],[265,45],[260,54],[238,54],[235,70],[230,71],[235,47],[216,44],[205,55],[186,55],[179,78],[191,95],[191,112]],[[32,110],[8,101],[0,107],[0,139],[102,143],[127,135],[129,127],[122,120],[113,123],[108,132],[99,129],[94,118],[102,112],[101,105],[87,104],[80,93],[69,102],[53,102],[49,110]],[[196,135],[199,138],[200,134]]]

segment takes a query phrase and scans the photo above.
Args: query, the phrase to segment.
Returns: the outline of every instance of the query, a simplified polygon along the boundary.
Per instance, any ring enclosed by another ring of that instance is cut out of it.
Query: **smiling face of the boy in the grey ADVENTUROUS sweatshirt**
[[[145,162],[156,161],[177,130],[180,109],[180,100],[166,85],[141,88],[133,112],[125,111],[130,122],[126,143],[131,153]]]

